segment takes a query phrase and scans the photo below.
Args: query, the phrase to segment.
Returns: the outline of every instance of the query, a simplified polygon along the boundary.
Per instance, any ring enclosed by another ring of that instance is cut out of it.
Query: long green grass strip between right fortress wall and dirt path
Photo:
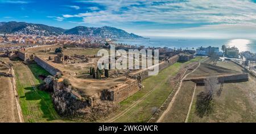
[[[122,101],[120,103],[119,110],[114,112],[113,116],[141,99],[145,94],[152,90],[154,91],[114,122],[147,122],[154,114],[154,111],[162,105],[173,90],[173,87],[170,84],[171,78],[176,76],[181,66],[188,65],[189,63],[198,60],[201,60],[201,58],[197,57],[184,63],[176,62],[174,65],[171,65],[159,72],[157,76],[151,76],[144,79],[142,82],[144,88],[141,91],[138,91],[138,93]]]

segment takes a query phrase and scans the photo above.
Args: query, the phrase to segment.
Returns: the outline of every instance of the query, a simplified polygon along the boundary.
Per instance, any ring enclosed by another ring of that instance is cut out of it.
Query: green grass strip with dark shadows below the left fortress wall
[[[38,76],[47,76],[48,72],[37,64],[27,66],[20,61],[14,61],[14,70],[24,121],[65,122],[55,111],[51,95],[38,90],[38,85],[43,82]]]

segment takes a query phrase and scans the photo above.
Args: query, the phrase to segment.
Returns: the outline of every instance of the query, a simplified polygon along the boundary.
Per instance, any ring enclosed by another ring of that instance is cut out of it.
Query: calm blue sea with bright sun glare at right
[[[118,40],[116,43],[130,44],[130,45],[144,45],[145,47],[168,47],[168,48],[182,48],[182,49],[196,49],[203,47],[219,47],[221,51],[222,45],[236,46],[240,52],[250,51],[256,52],[256,41],[248,39],[186,39],[176,37],[150,37],[144,40]]]

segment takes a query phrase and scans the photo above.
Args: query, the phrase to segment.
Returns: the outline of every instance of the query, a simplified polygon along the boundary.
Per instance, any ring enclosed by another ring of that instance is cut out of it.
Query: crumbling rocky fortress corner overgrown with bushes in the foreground
[[[96,120],[108,116],[118,108],[113,101],[81,97],[72,89],[71,85],[65,86],[60,79],[53,81],[52,99],[56,111],[61,116],[71,116],[72,118]]]

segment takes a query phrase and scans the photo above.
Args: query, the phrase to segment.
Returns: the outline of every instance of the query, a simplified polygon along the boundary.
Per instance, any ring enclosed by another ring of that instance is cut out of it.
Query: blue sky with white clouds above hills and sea
[[[0,22],[121,28],[142,36],[256,37],[256,0],[0,0]]]

